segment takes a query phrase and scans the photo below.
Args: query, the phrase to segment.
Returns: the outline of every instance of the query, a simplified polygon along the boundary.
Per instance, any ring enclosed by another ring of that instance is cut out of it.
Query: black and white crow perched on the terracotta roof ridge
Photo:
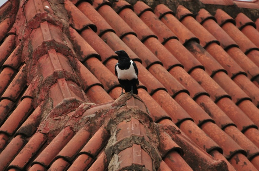
[[[125,92],[138,94],[139,80],[136,63],[130,59],[124,50],[115,51],[115,53],[119,56],[118,63],[115,65],[115,75],[118,77],[122,90],[125,89]],[[122,90],[121,94],[123,94]]]

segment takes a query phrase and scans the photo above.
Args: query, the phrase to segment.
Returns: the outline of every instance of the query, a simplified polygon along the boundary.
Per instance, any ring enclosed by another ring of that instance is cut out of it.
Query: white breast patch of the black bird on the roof
[[[132,65],[133,61],[130,60],[130,68],[129,69],[124,69],[121,70],[119,69],[118,65],[116,66],[116,71],[117,71],[117,75],[118,75],[118,79],[128,79],[128,80],[132,80],[132,79],[137,79],[137,74],[135,72],[134,66]]]

